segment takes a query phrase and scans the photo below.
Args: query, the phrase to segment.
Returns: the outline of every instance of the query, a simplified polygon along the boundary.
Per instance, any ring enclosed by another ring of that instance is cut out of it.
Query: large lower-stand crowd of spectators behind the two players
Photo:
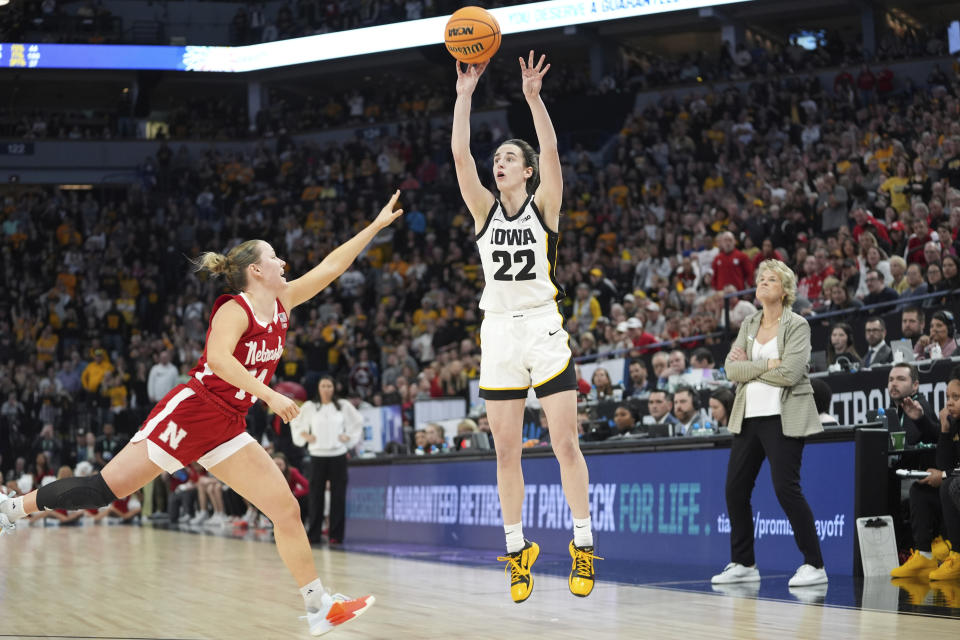
[[[696,349],[752,312],[752,296],[733,299],[726,327],[724,292],[749,288],[769,257],[797,271],[795,308],[808,315],[943,291],[923,303],[917,341],[929,346],[933,312],[960,286],[960,81],[938,73],[891,91],[857,90],[840,73],[826,87],[765,79],[666,97],[632,113],[602,155],[565,149],[557,279],[575,354],[637,358],[621,393],[642,385],[659,411],[668,399],[651,392],[666,372],[694,355],[707,362]],[[474,142],[486,175],[498,140],[478,127]],[[5,192],[0,468],[58,449],[100,464],[114,450],[102,439],[129,436],[184,380],[222,287],[194,276],[186,256],[263,238],[298,275],[397,187],[403,220],[294,312],[277,380],[312,394],[329,372],[356,404],[399,404],[410,423],[413,402],[466,395],[479,366],[473,222],[449,131],[430,119],[337,145],[282,134],[250,154],[162,144],[122,194]],[[612,396],[597,375],[581,390]],[[266,423],[262,407],[253,414]]]

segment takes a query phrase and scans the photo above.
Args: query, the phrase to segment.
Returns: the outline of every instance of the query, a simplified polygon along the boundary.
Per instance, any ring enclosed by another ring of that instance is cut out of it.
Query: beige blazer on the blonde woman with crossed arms
[[[810,362],[810,325],[807,320],[788,309],[784,309],[777,332],[777,350],[780,353],[780,366],[767,370],[766,360],[751,360],[753,340],[760,330],[762,311],[757,311],[740,325],[740,333],[733,346],[747,353],[747,360],[732,362],[727,356],[724,369],[727,379],[739,383],[737,395],[730,411],[728,428],[731,433],[740,433],[743,424],[747,392],[747,383],[762,380],[767,384],[780,387],[780,420],[783,435],[791,438],[803,438],[823,431],[817,405],[813,401],[813,387],[807,377]]]

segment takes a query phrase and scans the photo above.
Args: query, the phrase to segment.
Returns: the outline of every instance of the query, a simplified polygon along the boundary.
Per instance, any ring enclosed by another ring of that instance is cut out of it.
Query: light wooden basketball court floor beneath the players
[[[957,620],[598,584],[579,599],[537,577],[509,601],[502,572],[316,550],[334,590],[377,604],[327,637],[946,638]],[[150,527],[30,528],[0,537],[0,638],[309,638],[272,544]],[[948,635],[949,634],[949,635]]]

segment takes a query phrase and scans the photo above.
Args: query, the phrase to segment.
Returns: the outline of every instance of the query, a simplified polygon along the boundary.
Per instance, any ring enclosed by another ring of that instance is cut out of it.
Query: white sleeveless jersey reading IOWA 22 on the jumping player
[[[477,234],[485,281],[480,308],[517,311],[562,299],[555,273],[559,240],[560,234],[547,228],[533,196],[527,196],[513,217],[507,217],[496,200]]]

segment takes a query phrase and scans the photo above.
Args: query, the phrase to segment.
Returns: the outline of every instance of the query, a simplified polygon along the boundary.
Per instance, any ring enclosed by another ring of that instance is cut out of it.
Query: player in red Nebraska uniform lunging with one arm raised
[[[283,353],[288,314],[333,282],[378,231],[403,213],[394,211],[399,196],[395,192],[372,224],[292,282],[284,278],[284,261],[263,240],[248,240],[227,255],[203,254],[197,269],[224,276],[240,294],[220,296],[214,303],[206,347],[190,381],[174,387],[154,407],[99,474],[65,478],[19,498],[0,495],[0,532],[41,509],[110,504],[161,471],[174,473],[196,460],[273,521],[277,550],[300,587],[313,635],[369,608],[373,596],[347,599],[323,589],[297,500],[270,454],[246,432],[245,416],[258,398],[284,422],[297,415],[296,403],[268,386]]]

